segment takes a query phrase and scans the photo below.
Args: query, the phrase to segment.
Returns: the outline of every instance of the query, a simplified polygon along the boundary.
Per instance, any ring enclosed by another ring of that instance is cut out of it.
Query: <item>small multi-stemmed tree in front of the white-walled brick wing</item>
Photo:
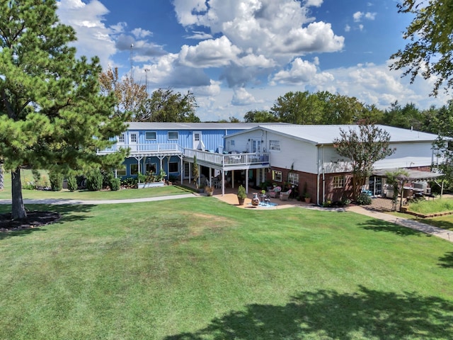
[[[389,132],[374,124],[360,123],[357,128],[340,129],[340,138],[333,141],[336,152],[347,157],[352,171],[352,195],[355,200],[372,175],[374,163],[395,152],[390,147]]]

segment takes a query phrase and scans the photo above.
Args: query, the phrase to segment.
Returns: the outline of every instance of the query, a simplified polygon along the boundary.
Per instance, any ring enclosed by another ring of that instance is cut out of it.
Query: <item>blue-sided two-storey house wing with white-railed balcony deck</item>
[[[127,123],[127,131],[117,136],[115,145],[98,152],[108,154],[119,148],[129,148],[124,166],[115,170],[117,177],[138,174],[159,174],[178,178],[181,183],[193,178],[196,157],[200,166],[200,186],[222,188],[238,183],[248,188],[249,180],[258,185],[265,181],[269,154],[260,136],[236,148],[234,141],[225,144],[225,137],[266,123]],[[270,125],[271,123],[269,123]],[[272,123],[272,125],[287,125]]]

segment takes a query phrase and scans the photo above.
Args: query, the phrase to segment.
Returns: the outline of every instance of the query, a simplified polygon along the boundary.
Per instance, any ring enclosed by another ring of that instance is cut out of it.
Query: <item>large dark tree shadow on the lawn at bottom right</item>
[[[361,286],[357,293],[302,292],[283,306],[247,305],[165,339],[448,339],[452,317],[453,302],[440,297]]]

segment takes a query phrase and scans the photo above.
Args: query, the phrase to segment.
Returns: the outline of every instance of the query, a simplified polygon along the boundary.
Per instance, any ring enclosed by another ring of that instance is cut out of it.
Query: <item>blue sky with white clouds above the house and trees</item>
[[[60,0],[79,55],[148,90],[195,94],[202,121],[269,110],[288,91],[331,91],[389,108],[442,106],[434,79],[401,79],[389,57],[411,22],[396,0]]]

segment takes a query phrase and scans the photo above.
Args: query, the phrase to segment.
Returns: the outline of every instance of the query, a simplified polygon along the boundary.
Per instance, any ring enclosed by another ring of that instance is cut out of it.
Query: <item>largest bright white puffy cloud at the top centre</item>
[[[175,0],[173,4],[186,28],[205,26],[243,53],[262,55],[280,65],[309,52],[338,51],[344,45],[330,23],[306,26],[314,21],[309,6],[321,6],[321,0]]]

